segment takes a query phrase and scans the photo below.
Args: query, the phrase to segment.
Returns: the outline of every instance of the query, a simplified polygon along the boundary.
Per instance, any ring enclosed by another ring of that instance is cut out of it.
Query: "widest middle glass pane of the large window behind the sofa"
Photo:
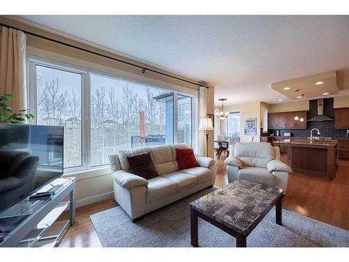
[[[172,92],[92,74],[91,166],[119,150],[173,143],[172,108]]]

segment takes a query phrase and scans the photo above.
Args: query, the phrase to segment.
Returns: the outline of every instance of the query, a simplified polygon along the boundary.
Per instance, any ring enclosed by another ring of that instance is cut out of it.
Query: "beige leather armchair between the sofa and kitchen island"
[[[280,161],[279,147],[270,143],[235,143],[225,159],[228,182],[248,180],[287,190],[288,173],[292,169]]]

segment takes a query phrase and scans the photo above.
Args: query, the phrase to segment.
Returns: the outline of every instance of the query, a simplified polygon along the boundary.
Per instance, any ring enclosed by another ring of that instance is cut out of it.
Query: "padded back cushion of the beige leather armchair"
[[[274,148],[269,143],[236,143],[234,146],[235,157],[250,157],[273,160]]]

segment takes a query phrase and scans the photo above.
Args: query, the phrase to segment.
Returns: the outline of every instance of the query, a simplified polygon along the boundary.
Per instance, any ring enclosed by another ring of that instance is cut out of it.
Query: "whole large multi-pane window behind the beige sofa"
[[[51,61],[29,61],[29,82],[36,123],[64,126],[69,170],[132,147],[192,145],[191,96]]]

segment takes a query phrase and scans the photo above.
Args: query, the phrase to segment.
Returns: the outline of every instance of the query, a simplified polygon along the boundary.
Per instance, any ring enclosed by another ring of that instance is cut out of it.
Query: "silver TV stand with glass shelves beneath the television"
[[[47,188],[46,188],[47,187]],[[0,247],[54,247],[75,221],[75,179],[57,178],[36,192],[50,197],[25,198],[0,213]],[[34,194],[36,196],[36,194]],[[70,196],[69,201],[65,201]],[[59,216],[69,208],[69,219]]]

